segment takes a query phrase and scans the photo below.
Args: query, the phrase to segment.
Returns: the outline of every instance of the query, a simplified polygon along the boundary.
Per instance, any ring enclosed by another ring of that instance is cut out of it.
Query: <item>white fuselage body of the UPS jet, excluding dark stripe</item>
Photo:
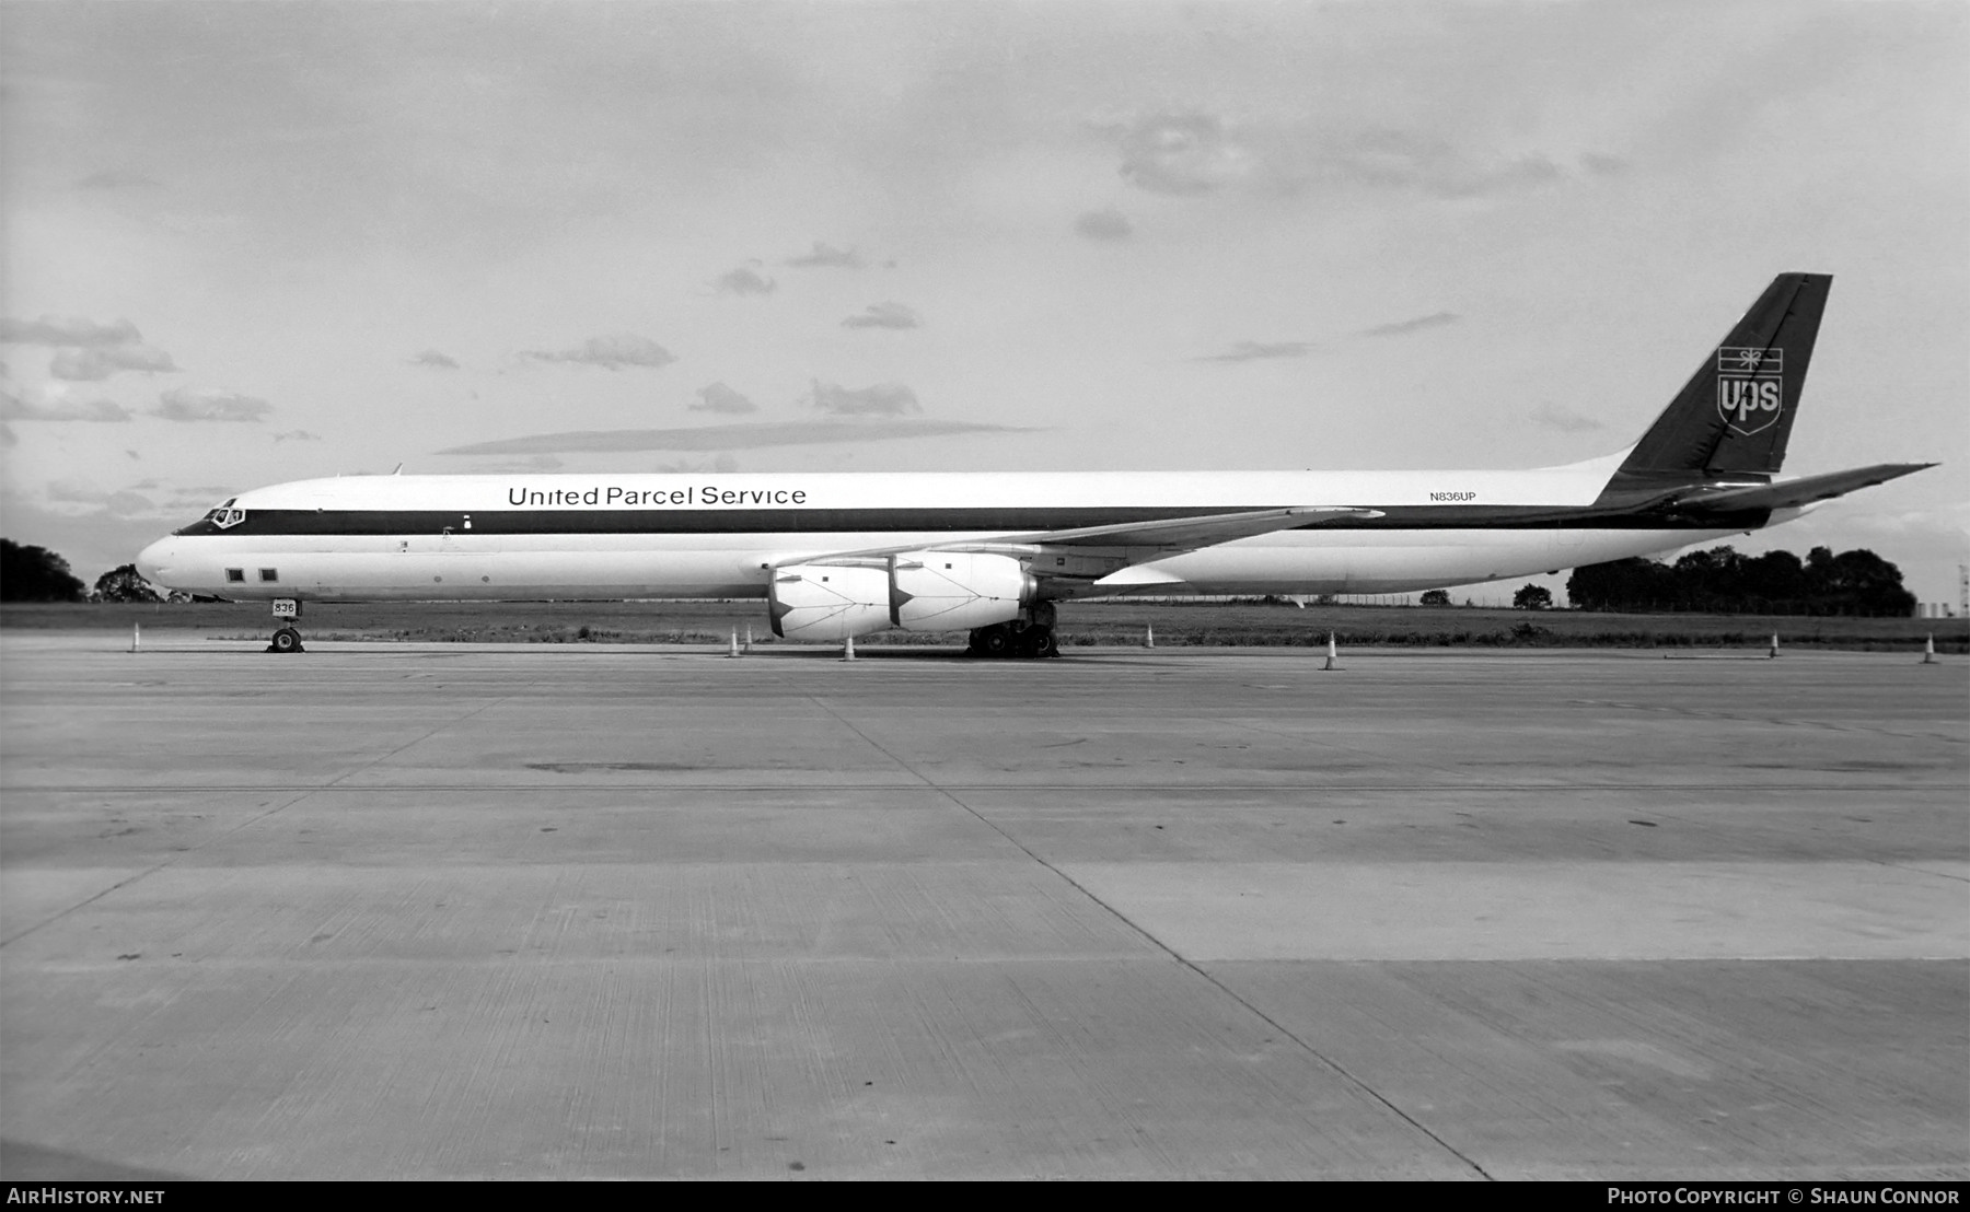
[[[774,567],[871,547],[1119,515],[1375,512],[1196,551],[1111,551],[1141,571],[1141,592],[1326,594],[1525,576],[1732,533],[1548,519],[1590,506],[1617,458],[1519,472],[343,476],[244,492],[229,502],[238,521],[160,539],[138,567],[234,600],[745,598],[766,594]]]

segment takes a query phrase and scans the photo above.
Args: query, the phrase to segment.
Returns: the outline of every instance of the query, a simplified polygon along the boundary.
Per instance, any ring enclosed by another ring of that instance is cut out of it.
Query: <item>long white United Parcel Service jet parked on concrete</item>
[[[1087,594],[1405,592],[1789,521],[1921,470],[1775,480],[1832,283],[1781,273],[1631,449],[1470,472],[347,476],[242,492],[138,557],[229,600],[764,598],[786,639],[969,630],[1054,655]],[[301,645],[292,626],[276,651]]]

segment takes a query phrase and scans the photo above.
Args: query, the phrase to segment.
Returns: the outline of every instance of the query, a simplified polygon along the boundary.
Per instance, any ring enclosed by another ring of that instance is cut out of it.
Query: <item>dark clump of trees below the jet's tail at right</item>
[[[1814,547],[1801,561],[1791,551],[1740,555],[1732,547],[1690,551],[1665,565],[1617,559],[1574,569],[1566,596],[1576,610],[1651,614],[1858,614],[1907,616],[1915,594],[1901,586],[1901,569],[1858,549],[1834,555]]]

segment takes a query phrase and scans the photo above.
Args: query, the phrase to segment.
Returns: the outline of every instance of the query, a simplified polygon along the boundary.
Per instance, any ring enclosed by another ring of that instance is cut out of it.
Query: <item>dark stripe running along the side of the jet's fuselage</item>
[[[197,521],[179,535],[760,535],[894,531],[1050,531],[1084,525],[1206,517],[1279,504],[1210,508],[1015,506],[983,510],[248,510],[238,525]],[[1659,512],[1554,506],[1377,506],[1381,517],[1310,521],[1300,529],[1753,529],[1769,512],[1682,517]]]

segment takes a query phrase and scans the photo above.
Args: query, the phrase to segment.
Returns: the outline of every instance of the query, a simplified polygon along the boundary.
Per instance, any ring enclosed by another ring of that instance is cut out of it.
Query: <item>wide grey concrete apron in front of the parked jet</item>
[[[1970,1177],[1962,661],[0,636],[0,1173]]]

